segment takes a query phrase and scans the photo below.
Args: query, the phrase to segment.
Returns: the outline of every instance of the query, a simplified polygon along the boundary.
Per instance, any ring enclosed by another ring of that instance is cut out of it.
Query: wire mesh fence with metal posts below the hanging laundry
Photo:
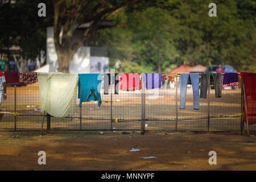
[[[222,89],[222,97],[215,97],[214,82],[210,81],[207,99],[200,98],[200,110],[193,109],[193,92],[188,82],[185,109],[180,110],[179,78],[170,83],[162,77],[162,88],[135,91],[119,90],[114,85],[109,94],[101,88],[102,104],[97,101],[72,100],[75,114],[69,118],[44,115],[43,130],[138,130],[138,131],[237,131],[245,132],[243,122],[242,81],[240,85]],[[7,85],[7,99],[0,105],[3,117],[0,130],[40,131],[43,114],[40,109],[38,82],[26,86]],[[250,125],[256,131],[256,125]]]

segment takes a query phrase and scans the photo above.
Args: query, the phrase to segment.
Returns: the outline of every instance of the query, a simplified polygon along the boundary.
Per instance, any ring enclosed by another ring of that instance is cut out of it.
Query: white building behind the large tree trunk
[[[76,31],[79,36],[82,31]],[[61,39],[61,33],[60,33]],[[53,26],[47,27],[46,65],[36,72],[57,72],[58,60],[53,39]],[[100,47],[81,46],[73,56],[69,65],[69,73],[108,73],[109,57]]]

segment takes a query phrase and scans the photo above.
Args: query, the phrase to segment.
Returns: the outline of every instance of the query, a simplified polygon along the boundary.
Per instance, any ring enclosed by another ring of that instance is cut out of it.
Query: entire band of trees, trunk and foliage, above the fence
[[[210,0],[46,0],[46,18],[37,16],[40,0],[10,2],[0,5],[0,47],[20,46],[24,59],[35,59],[46,50],[46,27],[53,25],[63,72],[85,42],[106,47],[110,67],[119,63],[122,72],[220,63],[256,72],[253,0],[216,1],[217,17],[208,15]],[[104,26],[105,21],[112,26]],[[74,39],[84,23],[89,26]]]

